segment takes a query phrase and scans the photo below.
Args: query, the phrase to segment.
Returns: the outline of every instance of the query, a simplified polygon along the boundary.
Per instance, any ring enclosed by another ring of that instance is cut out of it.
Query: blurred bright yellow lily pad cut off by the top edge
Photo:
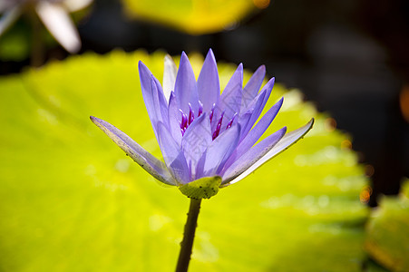
[[[209,34],[238,24],[266,0],[122,0],[127,15],[179,29]]]

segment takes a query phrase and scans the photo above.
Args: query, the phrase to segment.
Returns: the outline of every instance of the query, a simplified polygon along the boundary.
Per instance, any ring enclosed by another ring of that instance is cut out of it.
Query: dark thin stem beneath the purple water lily
[[[187,272],[189,268],[191,248],[195,238],[201,199],[190,199],[188,219],[186,221],[183,240],[180,243],[180,253],[176,272]]]

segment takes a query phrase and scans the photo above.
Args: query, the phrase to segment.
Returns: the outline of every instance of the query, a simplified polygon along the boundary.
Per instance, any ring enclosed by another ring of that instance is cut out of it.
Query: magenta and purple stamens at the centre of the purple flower
[[[212,124],[212,121],[213,121],[215,107],[216,107],[216,104],[213,104],[213,106],[211,107],[211,110],[209,112],[210,124]],[[185,134],[186,130],[188,129],[188,127],[190,126],[190,123],[195,120],[195,112],[191,109],[190,103],[189,103],[189,114],[186,114],[182,110],[179,110],[179,111],[181,113],[180,131],[181,131],[181,135],[183,136]],[[203,113],[203,104],[201,102],[199,102],[199,111],[198,111],[197,117],[200,117],[200,115],[202,113]],[[237,114],[238,114],[237,112],[234,113],[233,117],[231,118],[231,120],[226,125],[226,130],[228,130],[231,127],[231,125],[233,124],[233,121],[236,118]],[[223,117],[224,117],[224,111],[221,112],[219,120],[217,121],[217,124],[216,124],[216,127],[215,127],[214,131],[210,131],[212,140],[215,140],[219,136],[220,130],[222,129],[221,123],[223,121]]]

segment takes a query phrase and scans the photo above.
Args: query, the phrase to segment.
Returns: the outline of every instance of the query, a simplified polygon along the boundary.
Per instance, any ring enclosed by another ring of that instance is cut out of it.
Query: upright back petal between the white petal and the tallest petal
[[[195,74],[186,53],[181,53],[180,65],[175,82],[175,96],[180,110],[189,112],[189,103],[194,112],[198,112],[199,98]]]

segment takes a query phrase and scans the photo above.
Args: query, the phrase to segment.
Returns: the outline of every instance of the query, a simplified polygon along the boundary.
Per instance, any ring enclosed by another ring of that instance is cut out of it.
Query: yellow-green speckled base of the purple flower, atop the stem
[[[190,199],[209,199],[219,192],[221,177],[205,177],[179,187],[182,194]]]

